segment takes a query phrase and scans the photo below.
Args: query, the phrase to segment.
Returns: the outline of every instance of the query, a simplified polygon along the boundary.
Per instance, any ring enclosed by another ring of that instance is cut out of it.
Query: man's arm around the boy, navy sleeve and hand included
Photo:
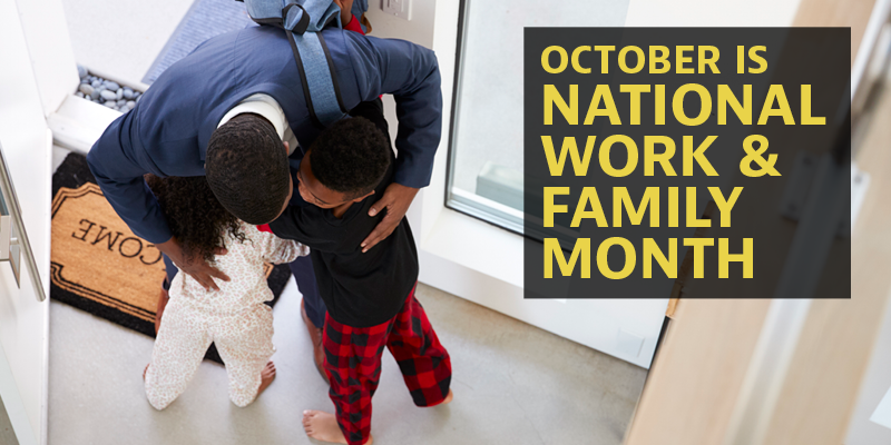
[[[362,241],[368,251],[393,233],[418,190],[430,184],[442,131],[442,92],[433,51],[403,40],[352,40],[365,43],[354,46],[360,93],[365,100],[392,93],[399,118],[395,180],[369,210],[375,216],[385,208],[386,215]]]

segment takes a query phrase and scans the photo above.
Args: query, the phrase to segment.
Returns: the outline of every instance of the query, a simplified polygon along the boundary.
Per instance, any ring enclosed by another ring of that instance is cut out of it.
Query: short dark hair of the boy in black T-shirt
[[[363,117],[335,122],[311,147],[310,167],[323,186],[354,199],[374,190],[390,167],[390,144]]]

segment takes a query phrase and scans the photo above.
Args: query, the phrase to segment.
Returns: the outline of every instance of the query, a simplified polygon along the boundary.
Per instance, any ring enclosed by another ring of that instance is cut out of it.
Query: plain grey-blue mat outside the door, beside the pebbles
[[[205,40],[254,23],[244,3],[234,0],[195,0],[167,43],[155,58],[143,83],[151,85],[164,70],[195,50]]]

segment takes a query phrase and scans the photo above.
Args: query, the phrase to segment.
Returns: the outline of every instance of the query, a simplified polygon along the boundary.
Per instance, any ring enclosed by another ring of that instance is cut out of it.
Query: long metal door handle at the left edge
[[[31,276],[31,284],[37,293],[38,301],[46,300],[47,295],[43,293],[43,284],[40,281],[35,254],[25,229],[19,199],[12,186],[12,176],[9,174],[3,146],[0,145],[0,261],[10,264],[12,275],[16,276],[16,285],[19,288],[21,288],[22,257],[28,267],[28,275]]]

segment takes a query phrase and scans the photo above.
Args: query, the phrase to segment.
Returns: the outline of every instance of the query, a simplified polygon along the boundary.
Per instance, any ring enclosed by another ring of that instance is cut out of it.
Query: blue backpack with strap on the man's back
[[[341,23],[341,9],[332,0],[236,0],[260,24],[284,29],[303,83],[310,117],[322,128],[346,116],[334,65],[320,31]],[[368,0],[354,0],[351,12],[361,17]],[[356,12],[359,12],[356,14]],[[365,30],[363,26],[363,30]]]

